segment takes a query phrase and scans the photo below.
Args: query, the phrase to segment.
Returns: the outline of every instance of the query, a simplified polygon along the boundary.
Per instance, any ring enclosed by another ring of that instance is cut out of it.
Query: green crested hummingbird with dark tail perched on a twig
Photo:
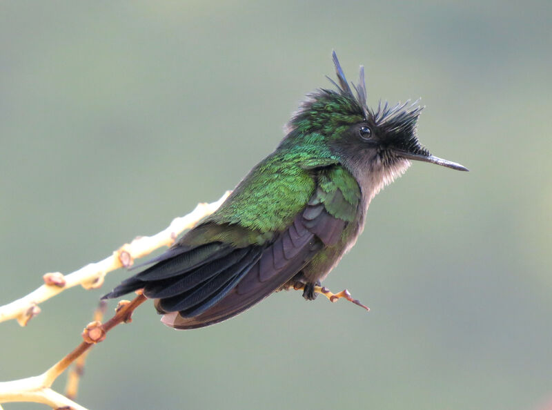
[[[349,85],[332,56],[335,89],[307,95],[274,152],[219,209],[103,299],[143,289],[175,329],[232,318],[297,284],[314,300],[362,233],[373,197],[411,161],[467,170],[420,144],[417,101],[368,108],[364,67]]]

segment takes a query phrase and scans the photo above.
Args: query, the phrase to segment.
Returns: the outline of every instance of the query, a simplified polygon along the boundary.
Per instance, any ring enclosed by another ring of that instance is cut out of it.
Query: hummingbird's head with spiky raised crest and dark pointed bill
[[[372,110],[366,105],[364,68],[360,67],[359,83],[351,84],[351,89],[335,52],[333,62],[337,82],[328,79],[337,90],[317,90],[308,96],[288,123],[289,139],[322,143],[348,168],[380,175],[383,184],[403,173],[410,160],[467,170],[431,155],[420,144],[416,125],[423,107],[418,101],[393,107],[380,102],[377,110]]]

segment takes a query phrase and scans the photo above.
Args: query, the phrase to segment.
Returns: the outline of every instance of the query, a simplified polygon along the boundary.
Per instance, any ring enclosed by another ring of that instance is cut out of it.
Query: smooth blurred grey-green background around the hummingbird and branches
[[[368,102],[423,97],[414,164],[325,284],[173,331],[152,306],[92,351],[90,409],[542,409],[552,400],[552,3],[3,1],[0,304],[233,188],[332,48]],[[103,289],[0,324],[0,380],[80,340]],[[110,309],[115,302],[110,303]],[[63,389],[64,378],[55,385]],[[544,406],[544,407],[543,407]],[[5,409],[41,409],[6,404]]]

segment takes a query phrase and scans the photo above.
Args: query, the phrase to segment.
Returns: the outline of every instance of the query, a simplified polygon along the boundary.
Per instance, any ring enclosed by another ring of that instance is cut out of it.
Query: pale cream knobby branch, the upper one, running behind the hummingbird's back
[[[21,326],[26,326],[30,319],[40,313],[41,309],[38,305],[50,299],[50,297],[54,297],[77,285],[83,286],[84,289],[99,288],[108,272],[121,267],[128,268],[132,266],[135,259],[148,255],[157,248],[161,248],[161,246],[172,245],[182,231],[192,228],[200,219],[215,212],[229,194],[229,191],[226,192],[217,202],[212,204],[198,204],[188,215],[173,219],[164,231],[152,236],[137,237],[130,244],[124,244],[100,262],[83,266],[78,271],[68,275],[59,272],[46,273],[43,275],[44,284],[38,289],[21,297],[21,299],[0,306],[0,322],[16,319]]]

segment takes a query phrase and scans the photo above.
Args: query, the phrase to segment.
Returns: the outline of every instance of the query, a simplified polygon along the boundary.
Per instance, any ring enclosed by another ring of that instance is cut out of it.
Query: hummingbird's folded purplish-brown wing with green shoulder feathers
[[[360,191],[341,167],[320,170],[316,179],[317,188],[307,206],[262,250],[233,289],[201,311],[165,309],[164,300],[156,300],[158,311],[165,313],[162,322],[176,329],[195,329],[232,318],[281,288],[324,246],[336,246],[355,218]]]

